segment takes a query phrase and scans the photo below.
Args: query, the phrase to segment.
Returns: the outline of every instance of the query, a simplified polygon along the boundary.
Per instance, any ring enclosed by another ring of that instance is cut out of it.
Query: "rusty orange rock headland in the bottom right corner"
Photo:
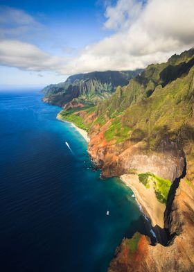
[[[167,225],[175,234],[169,246],[151,246],[141,235],[135,253],[129,252],[129,239],[123,239],[109,272],[193,272],[194,271],[194,190],[181,180],[175,194]],[[125,257],[127,256],[127,257]]]

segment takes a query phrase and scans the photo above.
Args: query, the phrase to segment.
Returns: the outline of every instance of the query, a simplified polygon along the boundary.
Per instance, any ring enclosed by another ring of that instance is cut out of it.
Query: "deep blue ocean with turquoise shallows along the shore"
[[[124,236],[145,232],[143,216],[41,97],[0,93],[0,271],[104,272]]]

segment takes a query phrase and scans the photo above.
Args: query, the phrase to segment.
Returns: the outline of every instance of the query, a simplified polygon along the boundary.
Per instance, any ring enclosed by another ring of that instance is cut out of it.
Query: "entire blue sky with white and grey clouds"
[[[194,46],[194,0],[1,0],[0,85],[144,68]]]

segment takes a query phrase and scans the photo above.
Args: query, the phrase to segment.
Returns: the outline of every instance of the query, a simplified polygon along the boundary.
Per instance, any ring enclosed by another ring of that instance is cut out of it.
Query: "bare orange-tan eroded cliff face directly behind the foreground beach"
[[[184,169],[184,152],[173,151],[145,151],[139,145],[131,142],[107,145],[103,135],[91,138],[89,154],[96,165],[102,168],[103,176],[121,176],[136,170],[141,173],[151,172],[161,178],[175,180],[182,175]]]

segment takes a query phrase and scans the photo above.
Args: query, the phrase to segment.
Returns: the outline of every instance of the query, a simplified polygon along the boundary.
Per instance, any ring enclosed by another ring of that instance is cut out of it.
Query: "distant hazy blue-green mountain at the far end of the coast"
[[[74,103],[96,104],[107,99],[118,85],[127,85],[131,78],[141,73],[136,71],[95,71],[88,74],[69,76],[64,83],[49,85],[42,92],[44,101],[55,105]]]

